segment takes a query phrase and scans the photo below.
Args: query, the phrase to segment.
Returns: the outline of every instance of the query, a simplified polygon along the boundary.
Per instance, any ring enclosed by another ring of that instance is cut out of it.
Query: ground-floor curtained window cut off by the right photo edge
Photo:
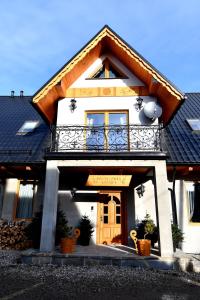
[[[189,214],[191,222],[200,222],[200,183],[187,184]]]

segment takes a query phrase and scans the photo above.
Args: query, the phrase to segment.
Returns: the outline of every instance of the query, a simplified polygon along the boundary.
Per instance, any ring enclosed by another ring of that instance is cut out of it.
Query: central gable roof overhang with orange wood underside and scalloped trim
[[[168,122],[184,94],[107,25],[35,93],[33,102],[49,122],[55,118],[55,103],[64,98],[70,85],[105,53],[112,53],[121,60],[144,82],[149,94],[159,98],[164,110],[163,121]]]

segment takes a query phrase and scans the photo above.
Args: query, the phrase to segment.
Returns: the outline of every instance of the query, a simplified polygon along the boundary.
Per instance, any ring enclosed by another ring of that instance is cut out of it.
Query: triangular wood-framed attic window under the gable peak
[[[102,66],[93,73],[89,79],[116,79],[127,78],[113,63],[108,59],[103,61]]]

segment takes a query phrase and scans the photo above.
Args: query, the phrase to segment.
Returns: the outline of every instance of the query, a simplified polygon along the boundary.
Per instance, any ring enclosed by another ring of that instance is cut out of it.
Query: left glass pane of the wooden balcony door
[[[87,125],[89,130],[86,132],[87,150],[103,150],[105,144],[105,114],[104,113],[88,113]],[[91,127],[91,129],[90,129]]]

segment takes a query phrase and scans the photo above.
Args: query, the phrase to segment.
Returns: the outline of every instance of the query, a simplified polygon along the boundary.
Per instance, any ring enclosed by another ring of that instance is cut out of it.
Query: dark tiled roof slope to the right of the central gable
[[[200,165],[200,133],[194,133],[187,119],[200,119],[200,93],[187,93],[164,134],[164,148],[169,164]]]

